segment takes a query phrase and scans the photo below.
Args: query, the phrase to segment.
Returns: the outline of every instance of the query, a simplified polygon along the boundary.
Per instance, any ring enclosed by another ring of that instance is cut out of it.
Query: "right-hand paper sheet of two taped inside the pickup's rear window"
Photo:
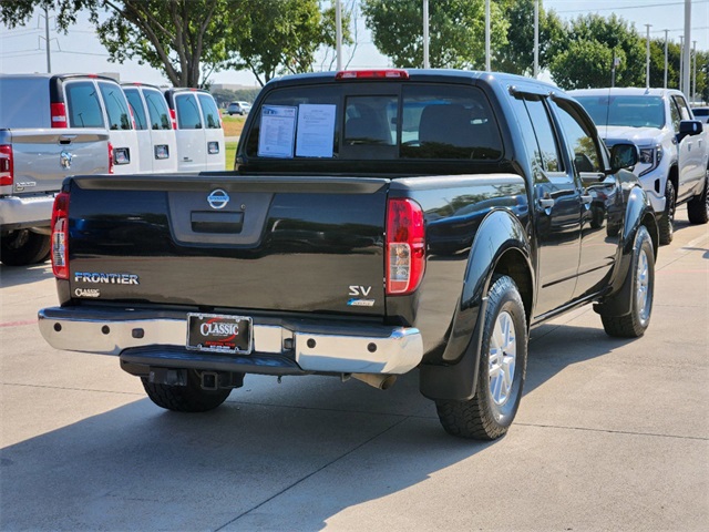
[[[300,104],[296,142],[297,156],[332,157],[336,108],[333,104]]]

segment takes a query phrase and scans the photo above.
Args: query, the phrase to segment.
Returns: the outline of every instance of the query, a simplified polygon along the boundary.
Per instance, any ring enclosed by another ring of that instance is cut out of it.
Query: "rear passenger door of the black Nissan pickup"
[[[527,94],[513,100],[534,173],[535,317],[571,301],[580,245],[580,191],[573,168],[567,168],[561,156],[545,100]]]

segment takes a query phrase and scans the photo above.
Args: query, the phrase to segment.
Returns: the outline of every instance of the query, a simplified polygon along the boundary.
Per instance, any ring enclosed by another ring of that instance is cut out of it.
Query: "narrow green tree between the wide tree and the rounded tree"
[[[494,54],[495,70],[513,74],[532,74],[534,70],[534,3],[536,0],[506,0],[501,2],[510,22],[507,43]],[[546,11],[540,2],[540,70],[548,68],[553,58],[551,48],[564,39],[564,24],[558,16]]]

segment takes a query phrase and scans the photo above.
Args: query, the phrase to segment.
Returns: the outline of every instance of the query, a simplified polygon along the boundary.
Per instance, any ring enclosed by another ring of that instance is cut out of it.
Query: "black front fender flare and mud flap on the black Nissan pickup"
[[[634,186],[630,190],[624,219],[623,236],[616,254],[616,264],[610,276],[610,293],[600,303],[594,305],[594,310],[597,314],[606,316],[625,316],[630,311],[633,298],[629,290],[633,283],[627,283],[626,280],[629,275],[633,275],[633,272],[630,272],[633,247],[635,245],[635,236],[641,225],[647,227],[653,238],[653,248],[657,260],[659,229],[655,212],[643,187]]]

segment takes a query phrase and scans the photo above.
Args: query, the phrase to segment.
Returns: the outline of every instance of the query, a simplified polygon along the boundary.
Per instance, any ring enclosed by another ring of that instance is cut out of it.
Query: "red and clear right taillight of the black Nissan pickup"
[[[387,295],[413,293],[425,272],[423,209],[412,200],[387,206]]]

